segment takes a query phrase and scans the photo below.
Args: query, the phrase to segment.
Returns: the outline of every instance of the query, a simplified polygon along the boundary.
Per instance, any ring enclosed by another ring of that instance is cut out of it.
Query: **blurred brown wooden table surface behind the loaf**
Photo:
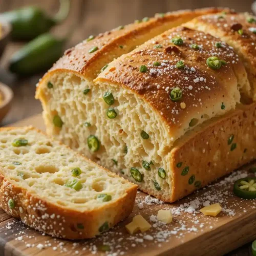
[[[98,34],[119,25],[131,23],[144,16],[153,16],[156,12],[210,6],[229,7],[244,12],[251,10],[252,2],[252,0],[72,0],[68,19],[52,32],[59,36],[65,35],[71,26],[76,25],[72,38],[67,44],[69,48],[90,34]],[[55,13],[58,1],[0,0],[0,12],[26,5],[38,5],[49,13]],[[41,112],[40,103],[34,99],[34,93],[35,84],[42,74],[20,79],[7,71],[10,56],[22,45],[19,42],[10,43],[0,62],[0,81],[8,84],[14,91],[12,109],[0,125],[16,122]],[[252,255],[251,244],[244,245],[228,255]]]

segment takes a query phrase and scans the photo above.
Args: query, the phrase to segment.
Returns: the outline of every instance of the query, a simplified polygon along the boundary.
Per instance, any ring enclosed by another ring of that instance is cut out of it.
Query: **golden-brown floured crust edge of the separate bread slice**
[[[16,129],[16,127],[1,128],[0,132],[2,130],[11,131],[12,129]],[[31,127],[30,129],[34,128]],[[99,166],[99,168],[103,167]],[[113,175],[120,179],[119,176]],[[85,239],[95,237],[100,233],[98,229],[106,219],[110,220],[109,227],[113,227],[131,214],[136,193],[137,185],[133,184],[131,188],[127,189],[123,197],[113,203],[105,204],[95,210],[78,211],[55,205],[23,187],[14,185],[10,179],[4,176],[4,170],[0,169],[0,194],[2,195],[0,207],[9,215],[20,218],[28,226],[58,238]],[[8,206],[10,199],[15,201],[14,209],[10,209]]]

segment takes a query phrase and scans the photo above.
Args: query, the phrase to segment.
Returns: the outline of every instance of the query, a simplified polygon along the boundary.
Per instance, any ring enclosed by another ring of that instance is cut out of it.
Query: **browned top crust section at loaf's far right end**
[[[256,100],[256,17],[247,13],[205,15],[184,26],[220,37],[234,48],[244,62]]]

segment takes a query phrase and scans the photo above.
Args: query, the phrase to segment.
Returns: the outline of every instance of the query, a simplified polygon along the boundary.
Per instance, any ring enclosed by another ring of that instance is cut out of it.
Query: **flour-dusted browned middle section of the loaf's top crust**
[[[183,44],[175,45],[172,42],[175,37],[182,38]],[[248,84],[237,54],[224,42],[217,48],[217,42],[220,42],[218,38],[203,32],[175,28],[113,61],[95,81],[134,90],[159,112],[175,140],[194,126],[190,123],[193,118],[199,124],[235,108],[240,99],[236,75],[245,78],[241,83]],[[199,49],[191,48],[195,43]],[[161,48],[156,48],[159,45]],[[211,56],[218,56],[227,65],[219,70],[210,69],[206,59]],[[184,69],[176,67],[180,60]],[[156,61],[159,66],[154,66]],[[146,72],[140,71],[143,65],[147,67]],[[182,97],[172,101],[170,92],[176,87],[182,90]]]

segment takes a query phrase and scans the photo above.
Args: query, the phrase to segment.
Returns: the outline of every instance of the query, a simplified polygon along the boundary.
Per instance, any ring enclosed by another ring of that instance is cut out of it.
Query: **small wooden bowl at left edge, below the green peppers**
[[[11,108],[13,92],[10,87],[0,82],[0,94],[1,94],[1,97],[3,98],[3,101],[1,101],[0,103],[0,122],[1,122]]]

